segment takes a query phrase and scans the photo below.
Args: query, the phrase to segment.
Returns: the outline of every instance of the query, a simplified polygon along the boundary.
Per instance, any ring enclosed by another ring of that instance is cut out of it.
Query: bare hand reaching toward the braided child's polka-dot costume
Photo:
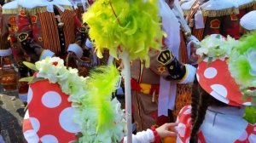
[[[177,135],[177,130],[175,129],[176,126],[177,126],[177,123],[165,123],[161,125],[159,128],[155,129],[155,131],[160,136],[160,138],[176,136]]]

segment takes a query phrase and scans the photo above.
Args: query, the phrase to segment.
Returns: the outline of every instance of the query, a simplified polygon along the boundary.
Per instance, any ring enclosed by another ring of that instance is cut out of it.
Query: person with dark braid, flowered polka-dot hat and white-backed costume
[[[240,41],[212,35],[201,42],[197,54],[206,58],[197,69],[200,87],[177,117],[177,142],[256,142],[256,124],[243,119],[245,106],[255,106],[255,37],[256,32]]]

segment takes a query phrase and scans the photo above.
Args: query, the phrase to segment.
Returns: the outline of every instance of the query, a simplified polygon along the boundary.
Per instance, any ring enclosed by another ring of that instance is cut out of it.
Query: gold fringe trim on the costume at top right
[[[203,16],[207,17],[220,17],[230,14],[239,14],[239,9],[232,8],[232,9],[222,9],[222,10],[205,10],[202,9]]]

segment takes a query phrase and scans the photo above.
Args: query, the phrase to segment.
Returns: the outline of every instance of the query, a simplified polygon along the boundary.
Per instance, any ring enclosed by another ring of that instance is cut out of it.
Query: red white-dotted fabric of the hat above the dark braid
[[[197,79],[201,87],[217,100],[230,106],[250,106],[251,101],[243,100],[239,85],[231,77],[227,58],[214,60],[207,64],[207,59],[199,63]]]

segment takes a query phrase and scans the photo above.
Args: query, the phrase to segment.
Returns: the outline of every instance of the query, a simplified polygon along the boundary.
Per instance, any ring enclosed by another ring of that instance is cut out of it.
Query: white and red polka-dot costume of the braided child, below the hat
[[[209,107],[198,132],[200,143],[253,143],[256,142],[256,124],[243,120],[243,108]],[[189,143],[191,106],[184,106],[177,117],[177,143]]]

